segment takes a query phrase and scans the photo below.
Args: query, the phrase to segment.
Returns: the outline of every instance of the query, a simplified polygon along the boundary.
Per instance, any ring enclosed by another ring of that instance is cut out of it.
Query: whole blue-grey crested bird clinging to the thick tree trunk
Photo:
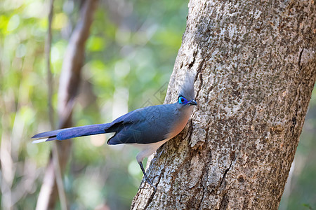
[[[35,134],[32,143],[67,140],[75,137],[114,133],[107,144],[131,144],[140,148],[136,160],[143,172],[145,181],[157,189],[145,172],[143,160],[152,155],[166,141],[176,137],[189,120],[193,106],[196,106],[194,80],[186,76],[173,104],[161,104],[136,109],[120,116],[112,123],[70,127]]]

